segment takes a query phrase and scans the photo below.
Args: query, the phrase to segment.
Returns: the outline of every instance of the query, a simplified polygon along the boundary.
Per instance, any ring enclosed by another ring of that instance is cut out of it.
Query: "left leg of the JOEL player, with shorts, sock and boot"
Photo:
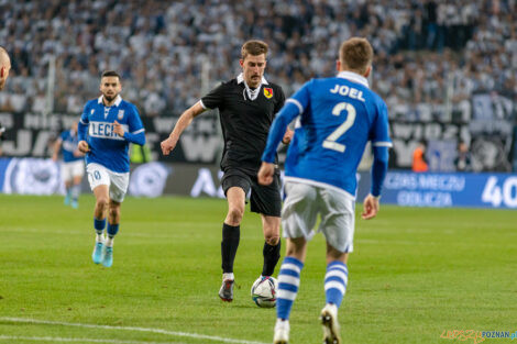
[[[307,240],[318,214],[315,187],[287,182],[287,198],[282,211],[284,237],[287,237],[286,257],[278,274],[276,300],[275,344],[285,344],[289,337],[289,315],[298,293],[300,273],[307,251]]]

